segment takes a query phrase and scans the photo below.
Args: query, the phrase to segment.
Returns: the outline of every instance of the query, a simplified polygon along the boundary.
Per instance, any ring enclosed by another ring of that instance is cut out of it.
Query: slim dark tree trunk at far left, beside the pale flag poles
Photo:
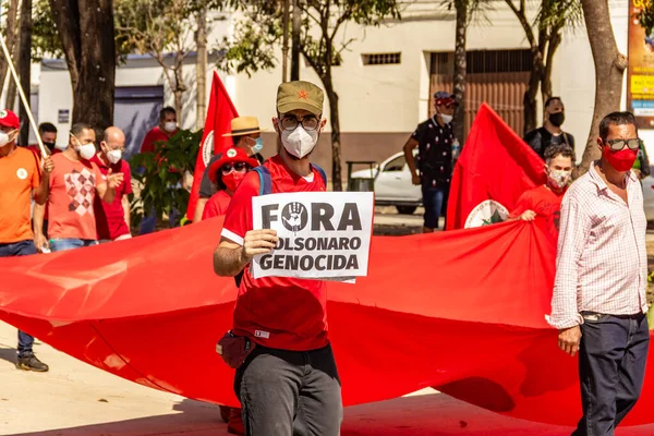
[[[32,95],[32,0],[23,0],[21,4],[21,49],[17,72],[19,77],[21,77],[21,87],[29,104],[29,96]],[[27,145],[31,130],[29,118],[27,117],[29,108],[26,108],[22,101],[20,108],[21,136],[19,142],[21,145]],[[34,132],[34,134],[38,133]]]

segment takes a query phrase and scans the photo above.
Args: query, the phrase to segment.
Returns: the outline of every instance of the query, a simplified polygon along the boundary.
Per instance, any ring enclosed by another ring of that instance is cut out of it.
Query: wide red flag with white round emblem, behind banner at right
[[[524,191],[545,183],[543,166],[543,159],[482,104],[455,168],[447,229],[505,220]]]

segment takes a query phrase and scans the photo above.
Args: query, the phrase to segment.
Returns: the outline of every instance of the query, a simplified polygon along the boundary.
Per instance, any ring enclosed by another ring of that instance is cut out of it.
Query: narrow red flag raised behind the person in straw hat
[[[211,97],[209,98],[209,108],[205,121],[204,133],[197,161],[195,164],[195,172],[193,173],[193,190],[189,199],[189,208],[186,209],[186,218],[192,220],[195,214],[195,205],[199,197],[199,183],[209,160],[217,153],[228,148],[232,144],[231,137],[222,137],[222,134],[231,131],[231,120],[239,117],[237,108],[222,81],[218,77],[218,73],[214,71],[214,81],[211,82]]]

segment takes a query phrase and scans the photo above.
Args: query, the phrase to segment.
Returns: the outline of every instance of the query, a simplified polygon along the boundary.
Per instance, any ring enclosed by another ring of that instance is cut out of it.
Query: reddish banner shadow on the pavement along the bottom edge
[[[217,405],[183,400],[181,413],[112,423],[20,433],[14,436],[227,436]],[[342,436],[561,436],[571,428],[506,417],[446,395],[398,398],[346,409]],[[621,428],[621,436],[645,436],[654,425]]]

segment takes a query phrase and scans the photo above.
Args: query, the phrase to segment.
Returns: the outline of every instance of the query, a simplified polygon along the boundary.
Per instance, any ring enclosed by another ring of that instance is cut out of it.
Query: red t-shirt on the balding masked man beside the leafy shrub
[[[130,164],[128,164],[126,160],[121,159],[118,164],[107,167],[100,160],[98,155],[92,157],[90,161],[98,166],[102,175],[107,175],[109,168],[111,168],[113,174],[119,172],[123,173],[123,181],[116,189],[113,203],[105,203],[99,195],[96,195],[93,203],[96,215],[96,227],[98,229],[98,239],[113,241],[118,237],[130,234],[130,228],[125,222],[125,209],[122,205],[123,195],[132,193],[132,171],[130,170]]]

